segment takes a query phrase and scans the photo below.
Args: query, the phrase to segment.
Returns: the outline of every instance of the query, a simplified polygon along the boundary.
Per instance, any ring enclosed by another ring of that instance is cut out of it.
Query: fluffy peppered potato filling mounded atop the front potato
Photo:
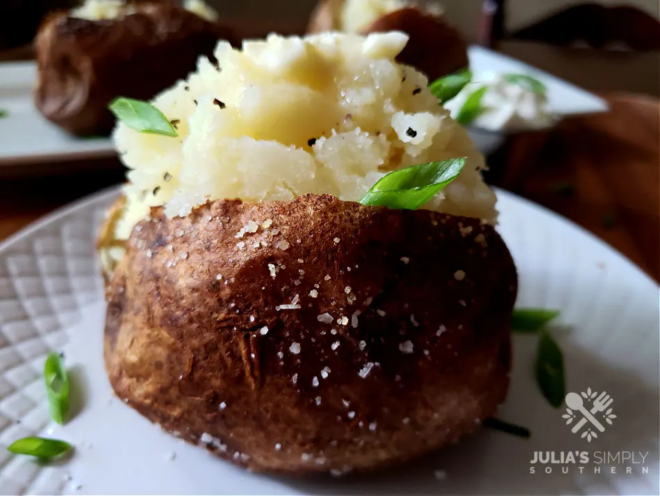
[[[463,171],[424,208],[494,223],[483,157],[426,77],[395,62],[407,39],[270,35],[242,50],[219,42],[217,66],[200,58],[197,72],[152,102],[178,137],[115,129],[130,169],[117,238],[127,239],[155,205],[173,217],[220,198],[329,193],[359,201],[390,170],[454,157],[467,157]]]

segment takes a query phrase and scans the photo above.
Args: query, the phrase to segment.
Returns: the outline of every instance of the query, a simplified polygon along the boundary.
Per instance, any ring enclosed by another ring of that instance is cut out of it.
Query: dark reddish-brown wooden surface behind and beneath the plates
[[[660,113],[657,54],[618,55],[506,42],[500,49],[590,90],[612,111],[517,136],[490,157],[490,179],[586,227],[660,280]],[[1,56],[0,56],[1,57]],[[623,69],[622,69],[623,67]],[[625,74],[621,74],[621,72]],[[116,159],[76,163],[76,175],[0,177],[0,240],[84,195],[118,184]],[[16,168],[15,168],[16,170]],[[86,170],[86,172],[80,172]]]

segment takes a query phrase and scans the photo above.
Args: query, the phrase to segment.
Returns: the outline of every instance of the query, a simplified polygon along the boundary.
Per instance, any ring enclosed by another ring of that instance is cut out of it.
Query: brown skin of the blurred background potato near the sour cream
[[[321,0],[311,13],[308,33],[339,29],[336,13],[343,0]],[[361,34],[402,31],[409,41],[397,61],[426,74],[430,81],[468,67],[468,45],[461,33],[443,17],[416,7],[402,8],[383,15]]]

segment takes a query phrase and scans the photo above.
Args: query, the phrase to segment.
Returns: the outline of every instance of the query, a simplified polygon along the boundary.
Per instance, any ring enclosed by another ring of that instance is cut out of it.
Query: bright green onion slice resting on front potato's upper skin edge
[[[390,209],[418,209],[452,182],[464,165],[465,158],[459,158],[393,170],[381,177],[360,202]]]

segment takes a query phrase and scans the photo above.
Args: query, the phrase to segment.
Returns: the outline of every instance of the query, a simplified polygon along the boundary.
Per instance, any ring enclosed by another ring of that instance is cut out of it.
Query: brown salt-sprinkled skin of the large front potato
[[[506,397],[517,274],[476,219],[330,195],[216,200],[185,218],[154,209],[126,249],[104,337],[117,396],[251,470],[404,461],[477,429]],[[295,295],[299,309],[279,309]]]

